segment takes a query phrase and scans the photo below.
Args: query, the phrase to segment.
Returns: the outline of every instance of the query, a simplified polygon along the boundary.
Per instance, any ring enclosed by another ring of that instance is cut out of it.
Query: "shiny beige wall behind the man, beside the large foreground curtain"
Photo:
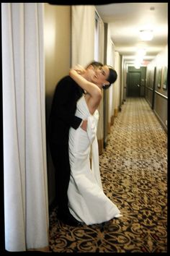
[[[68,74],[71,63],[71,7],[45,3],[45,114],[46,126],[55,85]],[[55,196],[53,163],[47,143],[49,204]]]

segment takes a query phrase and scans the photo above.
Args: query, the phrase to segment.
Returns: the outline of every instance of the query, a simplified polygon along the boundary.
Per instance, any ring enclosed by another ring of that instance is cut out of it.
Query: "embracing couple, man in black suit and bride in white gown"
[[[80,65],[71,68],[55,88],[48,133],[55,167],[55,200],[58,218],[71,226],[121,216],[102,189],[96,135],[102,89],[116,79],[115,69],[94,61],[86,69]]]

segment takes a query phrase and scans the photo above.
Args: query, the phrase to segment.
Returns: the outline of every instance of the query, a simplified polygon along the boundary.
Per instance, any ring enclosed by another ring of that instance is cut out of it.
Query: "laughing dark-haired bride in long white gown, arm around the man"
[[[102,99],[102,88],[109,88],[117,79],[117,73],[115,69],[104,65],[91,74],[95,84],[84,79],[83,74],[84,69],[79,65],[69,72],[73,80],[86,92],[77,103],[76,116],[86,119],[87,127],[86,131],[81,127],[71,127],[69,132],[71,177],[68,186],[68,207],[74,218],[91,225],[121,216],[120,210],[102,189],[96,135],[99,119],[97,108]]]

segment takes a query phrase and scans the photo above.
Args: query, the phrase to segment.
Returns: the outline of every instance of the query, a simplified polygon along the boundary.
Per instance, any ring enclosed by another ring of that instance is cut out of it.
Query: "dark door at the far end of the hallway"
[[[128,72],[127,97],[140,97],[140,72]]]

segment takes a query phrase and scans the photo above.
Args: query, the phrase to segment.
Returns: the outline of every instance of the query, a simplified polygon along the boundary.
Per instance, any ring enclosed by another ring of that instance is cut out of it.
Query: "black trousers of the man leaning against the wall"
[[[67,213],[68,209],[68,184],[71,168],[69,163],[68,145],[58,145],[49,142],[50,153],[55,167],[55,191],[59,213]]]

